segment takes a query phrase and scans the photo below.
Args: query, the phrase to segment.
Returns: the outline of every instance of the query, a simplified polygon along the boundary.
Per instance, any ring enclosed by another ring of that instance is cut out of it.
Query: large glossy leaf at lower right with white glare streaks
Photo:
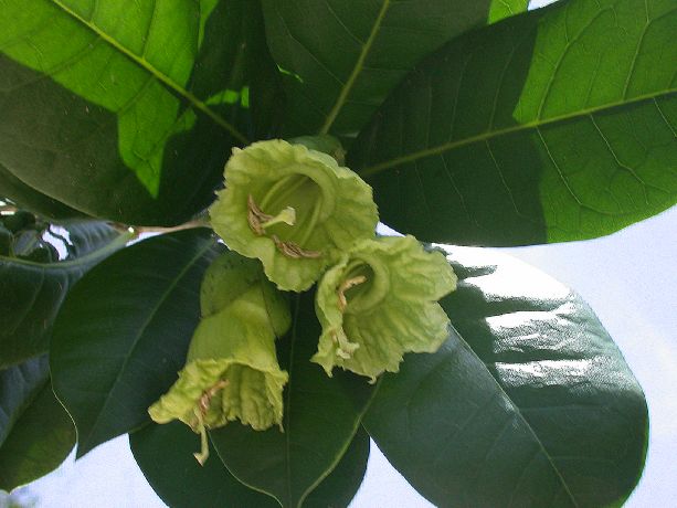
[[[364,426],[438,506],[620,506],[642,473],[648,414],[590,307],[505,255],[448,248],[456,330],[381,382]]]

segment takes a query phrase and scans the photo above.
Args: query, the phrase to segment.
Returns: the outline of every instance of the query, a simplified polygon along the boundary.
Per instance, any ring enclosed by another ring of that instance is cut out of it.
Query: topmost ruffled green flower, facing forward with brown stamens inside
[[[307,289],[336,252],[374,236],[371,188],[327,154],[260,141],[233,149],[224,176],[212,227],[233,251],[260,258],[281,289]]]

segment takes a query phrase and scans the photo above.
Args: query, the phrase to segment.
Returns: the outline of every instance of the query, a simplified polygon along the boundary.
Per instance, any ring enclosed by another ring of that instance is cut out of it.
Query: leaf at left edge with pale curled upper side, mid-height
[[[62,237],[65,257],[36,263],[0,255],[0,295],[12,295],[0,306],[0,368],[47,350],[53,321],[73,284],[133,234],[103,222],[71,222],[50,226],[42,236]]]

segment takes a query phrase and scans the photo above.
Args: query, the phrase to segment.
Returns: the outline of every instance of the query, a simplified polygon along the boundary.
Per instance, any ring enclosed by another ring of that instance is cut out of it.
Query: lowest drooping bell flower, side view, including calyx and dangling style
[[[208,269],[201,307],[186,367],[148,412],[157,423],[180,420],[200,434],[195,458],[203,464],[209,428],[234,420],[257,431],[282,428],[288,374],[277,362],[275,338],[289,328],[290,316],[260,264],[233,253]]]

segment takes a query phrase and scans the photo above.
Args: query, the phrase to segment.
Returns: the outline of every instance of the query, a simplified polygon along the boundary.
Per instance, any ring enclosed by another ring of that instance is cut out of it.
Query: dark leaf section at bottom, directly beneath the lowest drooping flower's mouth
[[[150,424],[130,434],[129,445],[150,486],[173,508],[279,506],[233,478],[215,453],[200,466],[193,457],[199,437],[180,422]]]

